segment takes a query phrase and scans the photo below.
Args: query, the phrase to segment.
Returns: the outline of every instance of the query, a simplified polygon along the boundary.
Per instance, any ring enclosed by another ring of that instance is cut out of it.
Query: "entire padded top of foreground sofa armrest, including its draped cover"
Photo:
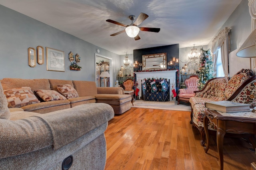
[[[114,117],[104,103],[84,104],[12,121],[0,119],[0,159],[68,145]]]

